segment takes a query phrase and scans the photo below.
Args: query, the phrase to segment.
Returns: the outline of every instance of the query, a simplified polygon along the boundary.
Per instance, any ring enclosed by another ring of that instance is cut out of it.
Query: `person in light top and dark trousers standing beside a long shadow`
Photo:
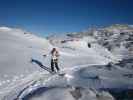
[[[54,67],[59,71],[58,67],[58,58],[59,58],[59,52],[56,48],[53,48],[51,51],[51,70],[52,72],[55,72]]]

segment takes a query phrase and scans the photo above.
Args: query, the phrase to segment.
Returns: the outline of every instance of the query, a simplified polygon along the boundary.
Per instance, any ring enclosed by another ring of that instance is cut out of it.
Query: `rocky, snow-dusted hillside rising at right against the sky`
[[[104,28],[92,28],[85,32],[68,34],[70,37],[88,37],[107,48],[117,56],[129,58],[133,56],[133,27],[131,25],[112,25]]]

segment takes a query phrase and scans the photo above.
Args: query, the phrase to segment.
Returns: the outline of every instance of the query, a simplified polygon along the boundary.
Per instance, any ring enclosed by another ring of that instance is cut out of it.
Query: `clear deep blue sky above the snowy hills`
[[[89,26],[133,24],[133,0],[0,0],[0,26],[40,36]]]

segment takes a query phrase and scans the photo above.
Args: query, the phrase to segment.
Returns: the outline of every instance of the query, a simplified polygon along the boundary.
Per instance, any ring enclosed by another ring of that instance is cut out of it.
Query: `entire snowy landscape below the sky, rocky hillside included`
[[[117,100],[133,89],[132,43],[130,25],[47,38],[0,27],[0,100]]]

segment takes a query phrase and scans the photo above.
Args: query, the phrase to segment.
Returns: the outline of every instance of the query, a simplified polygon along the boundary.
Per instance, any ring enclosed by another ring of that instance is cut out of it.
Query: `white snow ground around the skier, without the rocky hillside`
[[[65,75],[52,75],[31,63],[33,58],[50,68],[49,52],[53,46],[48,40],[20,29],[0,28],[0,98],[114,100],[101,90],[132,89],[133,78],[128,77],[132,70],[119,65],[106,67],[108,62],[116,63],[121,58],[97,43],[88,48],[87,41],[84,38],[61,44],[59,66]]]

